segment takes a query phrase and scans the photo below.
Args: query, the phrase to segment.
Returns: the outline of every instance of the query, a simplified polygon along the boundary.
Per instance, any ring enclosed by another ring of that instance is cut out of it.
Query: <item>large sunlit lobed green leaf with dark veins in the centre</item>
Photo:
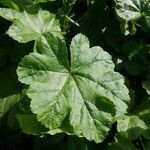
[[[114,72],[110,55],[98,46],[90,48],[82,34],[71,42],[71,62],[67,52],[64,42],[45,34],[35,53],[22,59],[19,80],[30,85],[32,112],[50,131],[68,118],[75,135],[101,142],[113,116],[126,113],[130,98],[124,79]]]

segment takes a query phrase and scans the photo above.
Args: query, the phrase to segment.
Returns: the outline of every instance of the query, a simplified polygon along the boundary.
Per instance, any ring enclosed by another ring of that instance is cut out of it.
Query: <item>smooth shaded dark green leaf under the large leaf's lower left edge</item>
[[[23,132],[33,135],[46,133],[47,129],[37,121],[33,114],[16,114],[20,128]]]

